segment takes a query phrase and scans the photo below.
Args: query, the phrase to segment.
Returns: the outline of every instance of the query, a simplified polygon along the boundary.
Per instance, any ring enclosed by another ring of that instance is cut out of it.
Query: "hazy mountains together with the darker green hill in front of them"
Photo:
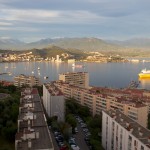
[[[0,39],[0,49],[34,50],[35,54],[44,57],[54,57],[54,55],[60,55],[63,52],[68,52],[70,55],[75,54],[75,57],[80,57],[80,55],[82,57],[85,55],[83,52],[92,51],[123,57],[150,57],[150,39],[104,41],[98,38],[48,38],[31,43],[13,39]]]

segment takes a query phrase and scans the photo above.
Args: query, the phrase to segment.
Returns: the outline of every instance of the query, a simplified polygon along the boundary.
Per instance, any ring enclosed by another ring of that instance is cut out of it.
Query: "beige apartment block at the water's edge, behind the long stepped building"
[[[89,74],[87,72],[67,72],[59,74],[59,80],[75,86],[89,88]]]

